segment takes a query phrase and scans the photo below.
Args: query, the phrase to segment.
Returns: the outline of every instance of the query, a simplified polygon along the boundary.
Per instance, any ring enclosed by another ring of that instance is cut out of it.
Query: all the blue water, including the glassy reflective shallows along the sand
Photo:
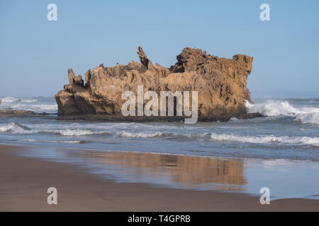
[[[0,117],[0,144],[27,157],[116,182],[319,199],[319,99],[254,100],[249,112],[265,117],[197,124],[65,121],[53,97],[1,100],[0,109],[51,113]]]

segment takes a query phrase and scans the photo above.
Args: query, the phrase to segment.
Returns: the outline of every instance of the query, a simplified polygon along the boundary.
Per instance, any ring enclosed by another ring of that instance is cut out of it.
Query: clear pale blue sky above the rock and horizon
[[[57,21],[47,5],[57,5]],[[259,6],[270,6],[261,21]],[[52,96],[103,63],[171,66],[184,47],[254,57],[252,97],[319,97],[319,1],[0,0],[0,97]]]

